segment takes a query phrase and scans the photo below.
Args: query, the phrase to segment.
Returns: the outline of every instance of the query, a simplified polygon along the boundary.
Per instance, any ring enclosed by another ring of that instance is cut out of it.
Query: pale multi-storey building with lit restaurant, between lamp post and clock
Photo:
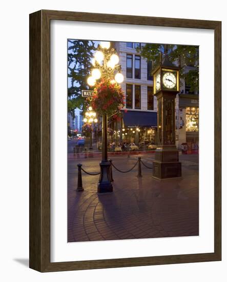
[[[135,143],[140,149],[156,144],[157,99],[153,96],[152,62],[140,56],[137,48],[144,44],[116,42],[121,71],[125,77],[121,84],[126,95],[121,120],[112,120],[112,139]],[[123,130],[123,131],[121,131]]]

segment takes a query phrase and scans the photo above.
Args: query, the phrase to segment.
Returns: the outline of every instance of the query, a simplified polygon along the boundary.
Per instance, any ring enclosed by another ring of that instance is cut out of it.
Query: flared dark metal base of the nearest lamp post
[[[110,177],[110,162],[102,160],[100,165],[101,173],[98,182],[98,193],[113,192],[113,186],[111,184]]]

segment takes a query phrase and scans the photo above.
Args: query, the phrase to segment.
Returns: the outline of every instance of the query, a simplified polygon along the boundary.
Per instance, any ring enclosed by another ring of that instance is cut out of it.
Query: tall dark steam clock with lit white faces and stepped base
[[[175,145],[175,98],[179,93],[179,67],[168,55],[154,69],[154,95],[157,97],[157,149],[153,162],[153,177],[168,179],[181,176],[181,163]]]

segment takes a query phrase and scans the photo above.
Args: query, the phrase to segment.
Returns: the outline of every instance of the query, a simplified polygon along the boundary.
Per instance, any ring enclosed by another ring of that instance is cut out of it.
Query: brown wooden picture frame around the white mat
[[[50,262],[50,21],[212,29],[215,34],[214,252]],[[41,10],[30,14],[30,268],[40,272],[221,260],[221,22]]]

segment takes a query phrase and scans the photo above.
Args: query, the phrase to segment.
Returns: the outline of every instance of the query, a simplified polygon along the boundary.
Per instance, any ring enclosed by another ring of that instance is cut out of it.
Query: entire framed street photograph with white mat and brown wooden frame
[[[30,14],[30,268],[221,260],[221,22]]]

